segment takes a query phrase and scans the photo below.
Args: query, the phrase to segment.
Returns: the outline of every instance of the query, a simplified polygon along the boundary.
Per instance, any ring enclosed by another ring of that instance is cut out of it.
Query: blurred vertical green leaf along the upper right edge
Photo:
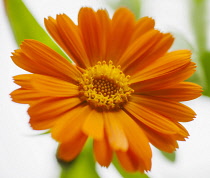
[[[192,0],[189,3],[190,20],[196,42],[197,65],[201,68],[202,74],[200,78],[202,83],[200,84],[204,87],[203,94],[210,96],[210,51],[207,48],[207,0]],[[199,82],[196,83],[199,84]]]

